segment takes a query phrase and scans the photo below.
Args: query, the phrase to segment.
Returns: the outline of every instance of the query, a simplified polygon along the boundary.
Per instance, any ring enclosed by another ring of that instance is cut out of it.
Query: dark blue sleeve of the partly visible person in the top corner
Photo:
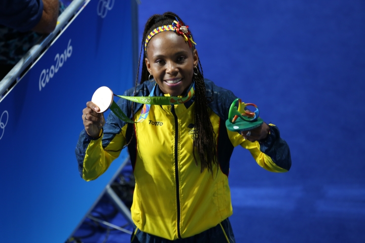
[[[41,0],[3,0],[0,2],[0,24],[21,32],[39,23],[43,13]]]

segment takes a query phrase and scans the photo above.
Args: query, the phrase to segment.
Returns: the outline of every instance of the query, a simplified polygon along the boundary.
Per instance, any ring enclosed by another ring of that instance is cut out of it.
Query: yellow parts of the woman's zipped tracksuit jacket
[[[194,163],[194,128],[188,126],[194,124],[195,104],[189,109],[185,105],[174,107],[177,130],[171,106],[151,106],[148,118],[143,123],[134,125],[137,157],[136,161],[132,161],[135,162],[136,181],[131,208],[133,222],[143,232],[170,240],[178,238],[178,227],[181,237],[186,238],[214,227],[232,215],[227,176],[216,166],[213,166],[213,173],[207,170],[201,173],[200,165]],[[134,117],[139,115],[140,111]],[[218,134],[220,118],[211,110],[209,117],[215,134]],[[126,127],[127,125],[104,150],[101,138],[91,141],[84,160],[85,180],[96,179],[118,157],[126,141]],[[175,177],[176,131],[178,178]],[[260,151],[258,142],[251,143],[240,134],[230,131],[228,135],[234,146],[240,144],[248,149],[264,169],[278,172],[283,170],[274,166],[271,158]],[[199,158],[197,154],[196,157]],[[177,207],[178,200],[180,207]]]

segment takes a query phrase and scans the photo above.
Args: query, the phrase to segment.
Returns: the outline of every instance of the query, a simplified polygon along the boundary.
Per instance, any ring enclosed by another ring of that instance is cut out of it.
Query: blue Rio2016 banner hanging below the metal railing
[[[85,182],[75,147],[94,91],[133,85],[131,4],[86,2],[1,101],[2,242],[64,242],[127,156]]]

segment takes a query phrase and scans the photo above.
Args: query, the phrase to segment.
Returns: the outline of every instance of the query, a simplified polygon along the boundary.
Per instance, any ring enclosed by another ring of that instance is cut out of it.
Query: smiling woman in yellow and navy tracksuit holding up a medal
[[[246,137],[226,128],[237,97],[204,79],[189,26],[176,14],[152,16],[143,36],[140,84],[137,76],[135,87],[124,94],[128,99],[118,101],[134,123],[112,112],[105,122],[89,101],[76,148],[80,174],[87,181],[96,179],[127,146],[136,181],[131,242],[235,242],[228,219],[234,147],[248,149],[268,171],[286,172],[288,145],[266,123],[245,132]],[[174,96],[178,104],[142,106],[130,96]],[[148,121],[139,122],[146,114]]]

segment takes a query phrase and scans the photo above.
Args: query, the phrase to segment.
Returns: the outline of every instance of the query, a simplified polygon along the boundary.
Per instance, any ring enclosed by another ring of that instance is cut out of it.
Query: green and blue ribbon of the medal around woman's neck
[[[117,103],[113,100],[113,103],[110,107],[112,112],[118,116],[119,119],[125,121],[126,123],[141,123],[144,121],[148,114],[150,113],[151,105],[180,105],[188,102],[195,94],[195,84],[190,89],[189,93],[185,97],[176,97],[176,96],[152,96],[154,94],[156,85],[151,91],[149,96],[124,96],[124,95],[115,95],[120,98],[130,100],[136,103],[143,104],[142,111],[137,121],[133,121],[128,118],[126,114],[122,111],[122,109],[117,105]]]

